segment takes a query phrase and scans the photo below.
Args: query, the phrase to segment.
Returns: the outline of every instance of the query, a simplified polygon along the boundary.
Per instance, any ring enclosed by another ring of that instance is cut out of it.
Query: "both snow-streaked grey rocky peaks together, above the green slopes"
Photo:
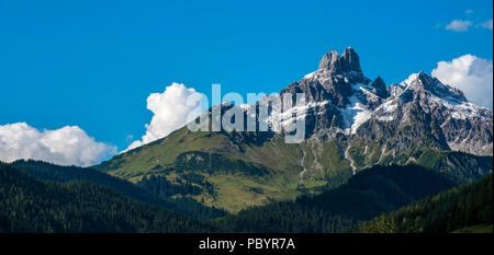
[[[368,79],[352,48],[325,54],[319,68],[282,93],[305,93],[306,138],[341,132],[348,139],[492,154],[492,111],[425,72],[388,89]],[[293,105],[295,106],[295,105]],[[300,106],[297,111],[300,112]],[[289,123],[292,116],[287,116]]]

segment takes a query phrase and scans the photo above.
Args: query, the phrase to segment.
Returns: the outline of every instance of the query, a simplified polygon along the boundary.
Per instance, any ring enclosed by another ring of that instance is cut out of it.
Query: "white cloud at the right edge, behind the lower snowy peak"
[[[433,77],[460,89],[472,103],[492,108],[492,60],[468,54],[451,61],[438,62]]]

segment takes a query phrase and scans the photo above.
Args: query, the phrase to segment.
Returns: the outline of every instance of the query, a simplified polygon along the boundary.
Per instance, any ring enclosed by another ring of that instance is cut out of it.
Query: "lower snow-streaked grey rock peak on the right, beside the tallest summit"
[[[442,84],[424,72],[413,74],[402,84],[390,88],[394,94],[388,101],[400,101],[404,104],[403,116],[429,116],[422,123],[428,123],[430,127],[425,131],[430,130],[438,139],[446,141],[447,147],[441,142],[439,148],[492,155],[492,111],[469,103],[463,92]],[[415,112],[407,108],[411,104],[417,105]],[[417,124],[396,117],[402,126]]]

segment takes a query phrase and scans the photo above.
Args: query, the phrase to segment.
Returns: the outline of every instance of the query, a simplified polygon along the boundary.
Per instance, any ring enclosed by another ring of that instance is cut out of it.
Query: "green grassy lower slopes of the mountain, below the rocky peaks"
[[[133,183],[150,175],[180,182],[184,175],[199,174],[213,185],[214,193],[180,196],[231,212],[338,187],[351,177],[352,167],[359,172],[375,164],[414,163],[458,184],[492,170],[492,157],[427,148],[381,148],[380,141],[353,140],[348,144],[343,135],[290,144],[282,135],[191,132],[183,127],[92,167]],[[205,189],[200,183],[194,185]]]

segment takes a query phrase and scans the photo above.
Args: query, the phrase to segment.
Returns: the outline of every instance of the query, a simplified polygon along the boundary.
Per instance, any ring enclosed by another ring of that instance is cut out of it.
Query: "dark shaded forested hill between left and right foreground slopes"
[[[377,165],[339,188],[252,207],[214,223],[232,232],[347,232],[361,221],[452,186],[444,176],[418,165]]]

